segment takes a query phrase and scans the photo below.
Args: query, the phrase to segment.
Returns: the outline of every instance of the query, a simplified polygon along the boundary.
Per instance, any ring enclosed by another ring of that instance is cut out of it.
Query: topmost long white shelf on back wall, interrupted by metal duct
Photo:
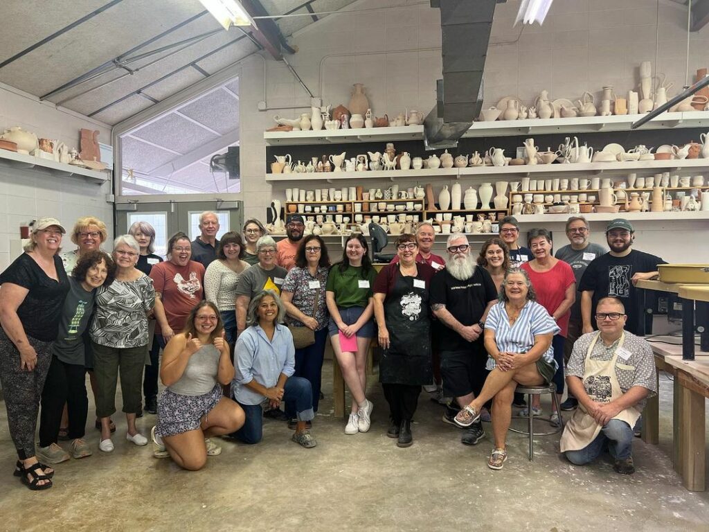
[[[597,131],[630,131],[630,124],[642,115],[577,116],[576,118],[527,118],[525,120],[498,120],[474,122],[464,137],[501,137],[513,135],[542,135],[545,133],[579,133]],[[709,111],[662,113],[642,126],[647,129],[709,128]],[[389,128],[336,129],[320,131],[266,131],[264,140],[269,145],[338,144],[358,142],[393,142],[394,140],[423,140],[423,126]]]

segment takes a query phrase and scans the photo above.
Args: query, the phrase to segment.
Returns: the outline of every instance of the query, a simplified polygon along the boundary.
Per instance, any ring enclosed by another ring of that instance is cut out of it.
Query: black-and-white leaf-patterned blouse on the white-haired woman
[[[96,315],[91,340],[109,348],[147,345],[147,312],[155,306],[152,279],[143,274],[135,281],[116,279],[96,291]]]

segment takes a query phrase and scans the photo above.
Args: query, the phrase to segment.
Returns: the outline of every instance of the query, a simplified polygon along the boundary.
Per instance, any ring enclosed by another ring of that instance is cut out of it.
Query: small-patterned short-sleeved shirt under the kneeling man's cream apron
[[[571,358],[569,358],[569,363],[566,365],[567,377],[574,375],[574,377],[579,377],[581,380],[584,379],[586,353],[596,334],[598,333],[587,333],[576,340]],[[593,360],[610,360],[613,358],[613,352],[619,341],[620,338],[606,347],[603,344],[603,340],[598,338],[596,345],[593,346],[593,351],[591,351],[591,358]],[[630,351],[630,357],[627,360],[623,360],[619,356],[615,360],[615,378],[618,379],[620,390],[625,394],[634,386],[642,386],[650,391],[647,397],[653,397],[657,394],[657,374],[655,372],[655,358],[652,354],[652,347],[647,343],[647,340],[625,331],[623,348]],[[638,410],[644,409],[646,401],[647,398],[642,399],[635,407]]]

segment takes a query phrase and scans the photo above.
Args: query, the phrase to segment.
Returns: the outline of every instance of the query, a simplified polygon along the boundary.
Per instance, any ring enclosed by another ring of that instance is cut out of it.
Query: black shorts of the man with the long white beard
[[[478,343],[465,351],[441,351],[441,377],[445,397],[478,395],[489,373],[485,369],[488,355]]]

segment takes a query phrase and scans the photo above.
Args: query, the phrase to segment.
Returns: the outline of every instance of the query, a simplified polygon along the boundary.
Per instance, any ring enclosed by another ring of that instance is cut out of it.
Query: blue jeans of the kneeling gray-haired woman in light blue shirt
[[[313,387],[308,380],[303,377],[290,377],[283,387],[283,400],[288,405],[293,404],[295,409],[294,417],[298,421],[311,421],[315,417],[313,412]],[[238,401],[237,401],[238,402]],[[246,421],[244,426],[229,436],[240,440],[242,443],[259,443],[263,438],[263,409],[260,404],[242,404]]]

